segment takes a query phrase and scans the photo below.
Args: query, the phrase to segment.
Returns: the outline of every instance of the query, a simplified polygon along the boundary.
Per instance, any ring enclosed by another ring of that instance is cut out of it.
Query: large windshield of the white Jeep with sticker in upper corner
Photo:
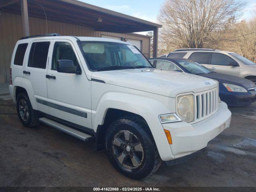
[[[153,68],[133,45],[118,42],[82,42],[82,51],[92,70]]]

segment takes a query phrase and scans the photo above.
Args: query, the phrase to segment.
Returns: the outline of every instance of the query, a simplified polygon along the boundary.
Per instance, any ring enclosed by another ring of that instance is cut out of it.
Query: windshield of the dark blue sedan
[[[182,65],[186,70],[188,70],[192,74],[208,74],[212,73],[212,71],[194,61],[190,60],[176,60],[180,65]]]

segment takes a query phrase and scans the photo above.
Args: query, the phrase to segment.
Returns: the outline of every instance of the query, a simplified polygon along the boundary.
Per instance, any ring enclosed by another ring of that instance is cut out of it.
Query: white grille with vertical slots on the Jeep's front
[[[194,122],[203,120],[218,110],[218,87],[212,90],[195,94],[195,119]]]

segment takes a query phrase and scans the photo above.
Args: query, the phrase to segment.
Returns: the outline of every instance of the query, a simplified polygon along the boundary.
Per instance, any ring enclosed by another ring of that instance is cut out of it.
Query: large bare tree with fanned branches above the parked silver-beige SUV
[[[212,32],[239,18],[245,6],[244,0],[165,0],[158,16],[159,48],[203,48]]]

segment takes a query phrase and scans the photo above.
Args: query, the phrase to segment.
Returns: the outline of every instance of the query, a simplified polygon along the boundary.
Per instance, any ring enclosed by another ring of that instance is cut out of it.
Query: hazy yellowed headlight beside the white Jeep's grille
[[[192,94],[178,96],[177,113],[186,122],[194,120],[194,96]]]

